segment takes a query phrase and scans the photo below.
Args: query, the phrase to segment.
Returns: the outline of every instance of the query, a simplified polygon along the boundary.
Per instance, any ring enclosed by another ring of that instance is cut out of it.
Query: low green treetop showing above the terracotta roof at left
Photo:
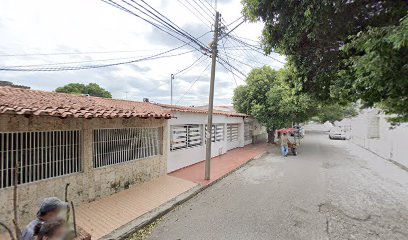
[[[95,97],[112,98],[112,94],[110,92],[101,88],[96,83],[89,83],[88,85],[82,83],[70,83],[55,89],[55,91],[61,93],[89,94],[90,96]]]

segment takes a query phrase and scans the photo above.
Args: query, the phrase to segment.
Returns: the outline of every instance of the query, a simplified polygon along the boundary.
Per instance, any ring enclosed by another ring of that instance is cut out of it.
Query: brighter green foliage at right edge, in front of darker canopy
[[[361,99],[396,114],[393,121],[408,121],[408,17],[351,37],[344,52],[350,57],[332,86],[333,96]]]

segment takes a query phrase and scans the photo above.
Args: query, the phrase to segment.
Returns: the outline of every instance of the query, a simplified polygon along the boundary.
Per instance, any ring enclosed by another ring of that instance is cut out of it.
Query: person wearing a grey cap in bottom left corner
[[[52,221],[58,218],[58,215],[62,210],[68,208],[68,203],[61,201],[56,197],[44,198],[40,204],[40,208],[37,212],[37,218],[31,221],[24,229],[22,240],[33,240],[34,228],[38,224],[43,224],[48,221]]]

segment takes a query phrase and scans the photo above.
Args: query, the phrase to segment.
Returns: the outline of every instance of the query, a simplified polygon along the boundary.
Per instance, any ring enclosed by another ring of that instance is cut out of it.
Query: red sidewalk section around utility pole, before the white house
[[[182,168],[169,173],[170,176],[189,180],[202,186],[207,186],[239,168],[248,161],[266,152],[267,144],[251,144],[243,148],[236,148],[211,159],[211,179],[204,180],[205,162]]]

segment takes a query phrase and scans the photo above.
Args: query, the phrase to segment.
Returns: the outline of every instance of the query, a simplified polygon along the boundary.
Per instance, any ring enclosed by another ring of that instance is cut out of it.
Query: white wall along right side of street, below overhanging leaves
[[[377,129],[370,126],[373,118],[379,120]],[[408,167],[408,123],[391,128],[386,115],[379,113],[378,109],[370,109],[352,119],[351,129],[354,143]],[[378,137],[372,137],[375,130],[378,130]]]

